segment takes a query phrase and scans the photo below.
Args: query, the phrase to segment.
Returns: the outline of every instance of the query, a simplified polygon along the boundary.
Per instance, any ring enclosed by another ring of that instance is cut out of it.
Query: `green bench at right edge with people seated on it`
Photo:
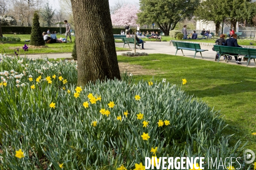
[[[255,62],[256,49],[254,48],[229,47],[229,46],[223,46],[223,45],[213,45],[213,46],[214,46],[214,51],[216,51],[217,54],[219,54],[218,62],[221,56],[225,56],[225,61],[228,62],[226,56],[229,56],[230,54],[236,54],[233,56],[245,55],[244,57],[248,58],[246,66],[248,66],[250,59],[253,59],[254,64],[256,66],[256,62]]]

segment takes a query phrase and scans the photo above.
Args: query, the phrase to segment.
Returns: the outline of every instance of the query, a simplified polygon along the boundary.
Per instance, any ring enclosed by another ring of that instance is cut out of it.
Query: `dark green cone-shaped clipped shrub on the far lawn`
[[[42,32],[40,29],[39,16],[37,11],[35,11],[34,13],[29,45],[35,45],[35,46],[45,45],[44,38],[42,36]]]

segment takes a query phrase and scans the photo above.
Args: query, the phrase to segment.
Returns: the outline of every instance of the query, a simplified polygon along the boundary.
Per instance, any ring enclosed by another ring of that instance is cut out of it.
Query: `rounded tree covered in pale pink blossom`
[[[128,23],[130,26],[137,26],[137,13],[140,10],[135,5],[125,5],[115,11],[111,15],[112,25],[125,26]]]

